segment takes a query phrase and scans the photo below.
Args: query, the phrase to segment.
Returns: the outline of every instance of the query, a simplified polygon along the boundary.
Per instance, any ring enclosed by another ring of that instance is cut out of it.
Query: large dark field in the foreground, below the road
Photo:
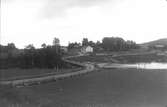
[[[15,91],[2,107],[167,107],[167,70],[100,70]]]

